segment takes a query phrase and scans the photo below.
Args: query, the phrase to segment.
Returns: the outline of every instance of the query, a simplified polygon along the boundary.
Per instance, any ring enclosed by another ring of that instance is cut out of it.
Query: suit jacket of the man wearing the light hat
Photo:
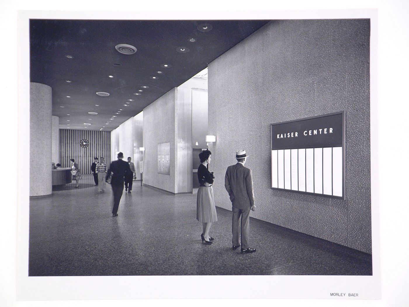
[[[250,210],[254,205],[252,170],[241,163],[227,167],[225,188],[233,207]]]

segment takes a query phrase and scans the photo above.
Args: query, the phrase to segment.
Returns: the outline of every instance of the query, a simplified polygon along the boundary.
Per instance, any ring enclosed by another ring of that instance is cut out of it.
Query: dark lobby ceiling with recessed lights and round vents
[[[267,22],[31,19],[30,81],[52,87],[60,128],[111,131]],[[118,44],[137,51],[121,54]]]

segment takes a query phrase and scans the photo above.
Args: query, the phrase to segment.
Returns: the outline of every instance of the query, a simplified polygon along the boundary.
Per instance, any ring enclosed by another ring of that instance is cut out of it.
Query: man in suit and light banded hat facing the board
[[[247,158],[246,151],[236,151],[237,164],[227,167],[225,188],[230,196],[233,212],[231,231],[233,233],[233,250],[240,247],[238,234],[241,224],[241,253],[254,253],[256,248],[249,247],[249,217],[250,209],[256,210],[254,204],[253,177],[251,169],[244,166]],[[241,217],[241,223],[239,224]]]

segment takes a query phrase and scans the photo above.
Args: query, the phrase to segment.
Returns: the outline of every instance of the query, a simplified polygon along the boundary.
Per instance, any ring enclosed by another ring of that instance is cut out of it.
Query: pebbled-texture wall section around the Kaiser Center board
[[[236,149],[250,154],[251,216],[371,253],[370,22],[272,21],[209,64],[216,205]],[[346,113],[346,199],[271,190],[270,124]]]

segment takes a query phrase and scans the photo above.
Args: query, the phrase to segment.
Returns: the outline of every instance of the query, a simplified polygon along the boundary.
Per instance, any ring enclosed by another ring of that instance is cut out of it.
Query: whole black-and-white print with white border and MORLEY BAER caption
[[[18,25],[17,300],[382,300],[377,9]]]

